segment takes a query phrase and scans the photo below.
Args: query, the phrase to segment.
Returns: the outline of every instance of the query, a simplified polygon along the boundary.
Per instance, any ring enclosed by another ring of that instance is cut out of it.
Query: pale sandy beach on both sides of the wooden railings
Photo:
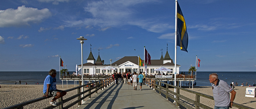
[[[74,88],[74,85],[68,85],[68,88],[65,88],[65,87],[67,87],[67,85],[64,85],[64,88],[62,88],[62,85],[57,85],[57,89],[60,89],[60,90]],[[192,88],[187,88],[187,89],[212,96],[211,86],[196,86],[193,89]],[[18,104],[20,102],[24,102],[28,100],[33,100],[38,97],[42,97],[43,96],[42,90],[43,90],[43,85],[1,85],[0,108],[4,108],[7,106],[11,106],[11,105]],[[237,86],[234,90],[237,92],[236,98],[234,100],[235,103],[249,106],[251,108],[256,107],[256,98],[245,97],[246,86],[245,87]],[[77,93],[76,91],[77,90],[68,92],[67,95],[63,97],[63,99],[73,96],[75,93]],[[180,91],[180,94],[188,98],[191,98],[192,100],[195,100],[195,94],[184,92],[182,90]],[[51,99],[52,98],[48,98],[30,105],[27,105],[24,107],[24,109],[44,108],[50,105],[49,101]],[[70,102],[73,102],[75,100],[72,100]],[[212,108],[214,107],[214,101],[208,98],[200,97],[200,102]],[[77,105],[74,105],[70,109],[75,109],[76,107]],[[237,108],[232,108],[232,109],[237,109]]]

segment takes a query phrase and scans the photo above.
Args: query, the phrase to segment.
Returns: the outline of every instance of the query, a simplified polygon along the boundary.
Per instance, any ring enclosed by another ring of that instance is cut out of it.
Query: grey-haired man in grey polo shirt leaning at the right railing
[[[232,108],[233,101],[236,97],[236,91],[227,84],[227,82],[218,79],[217,73],[209,75],[209,81],[212,83],[212,93],[215,101],[214,109]],[[231,93],[231,98],[229,97]]]

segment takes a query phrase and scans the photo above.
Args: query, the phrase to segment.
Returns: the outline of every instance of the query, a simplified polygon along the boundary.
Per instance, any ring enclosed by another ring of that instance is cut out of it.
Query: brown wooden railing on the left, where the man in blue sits
[[[113,82],[113,79],[111,77],[108,77],[108,78],[105,78],[105,79],[102,79],[102,80],[99,80],[99,81],[91,82],[89,84],[80,85],[80,86],[75,87],[75,88],[67,89],[67,90],[65,90],[66,92],[69,92],[69,91],[72,91],[72,90],[77,90],[77,94],[75,94],[74,96],[68,97],[65,100],[63,100],[62,97],[59,98],[59,104],[57,106],[59,106],[59,109],[68,109],[68,108],[70,108],[71,106],[73,106],[75,104],[81,105],[81,101],[83,99],[85,99],[86,97],[91,98],[91,94],[97,93],[98,90],[102,90],[106,86],[109,86],[112,82]],[[81,82],[79,82],[79,84],[81,84]],[[92,84],[95,84],[95,86],[91,86]],[[88,85],[89,88],[87,90],[84,90],[84,92],[81,92],[80,89],[82,87],[87,86],[87,85]],[[93,89],[95,89],[95,90],[93,90]],[[88,94],[81,97],[82,94],[87,93],[87,92],[88,92]],[[66,103],[66,102],[68,102],[72,99],[75,99],[75,98],[78,98],[78,100],[76,100],[75,102],[71,102],[71,104],[68,104],[65,107],[63,107],[64,103]],[[12,105],[12,106],[9,106],[9,107],[6,107],[6,108],[2,108],[2,109],[23,109],[23,106],[26,106],[26,105],[29,105],[31,103],[35,103],[35,102],[38,102],[38,101],[41,101],[41,100],[44,100],[44,99],[46,99],[46,97],[39,97],[39,98],[36,98],[34,100],[25,101],[25,102],[22,102],[22,103],[19,103],[19,104],[16,104],[16,105]],[[44,109],[53,109],[53,108],[56,108],[56,106],[48,106]]]

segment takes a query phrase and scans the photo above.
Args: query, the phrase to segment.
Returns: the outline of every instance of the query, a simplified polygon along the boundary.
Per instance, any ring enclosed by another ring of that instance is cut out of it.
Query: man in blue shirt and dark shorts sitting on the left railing
[[[50,100],[50,104],[53,106],[57,106],[56,100],[60,97],[63,97],[67,94],[66,91],[64,90],[58,90],[56,88],[56,70],[55,69],[51,69],[49,71],[49,75],[46,76],[45,81],[44,81],[44,89],[43,89],[43,93],[44,96],[46,96],[46,98],[48,98],[49,96],[53,96],[53,99]]]

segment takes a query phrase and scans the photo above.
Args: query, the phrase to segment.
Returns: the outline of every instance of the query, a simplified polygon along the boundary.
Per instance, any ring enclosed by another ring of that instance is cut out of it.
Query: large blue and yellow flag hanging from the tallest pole
[[[187,27],[185,23],[185,19],[183,17],[183,14],[180,9],[180,5],[177,1],[177,46],[180,46],[180,49],[182,51],[187,51],[188,48],[188,33],[187,33]]]

